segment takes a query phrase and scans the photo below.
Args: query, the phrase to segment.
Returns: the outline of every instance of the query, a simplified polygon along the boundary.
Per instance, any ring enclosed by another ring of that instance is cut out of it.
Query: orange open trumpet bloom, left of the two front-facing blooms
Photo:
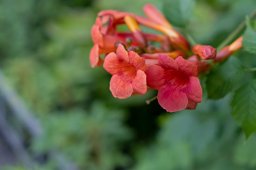
[[[114,97],[125,99],[135,91],[140,94],[147,92],[145,59],[134,51],[127,52],[122,44],[119,44],[116,53],[109,53],[103,67],[112,76],[110,91]]]

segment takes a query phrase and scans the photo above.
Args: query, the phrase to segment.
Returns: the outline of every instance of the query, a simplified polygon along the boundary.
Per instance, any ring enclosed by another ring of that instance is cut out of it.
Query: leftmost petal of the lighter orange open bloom
[[[123,74],[125,71],[136,73],[136,70],[130,64],[119,60],[114,52],[111,52],[106,56],[103,63],[103,68],[112,75]]]

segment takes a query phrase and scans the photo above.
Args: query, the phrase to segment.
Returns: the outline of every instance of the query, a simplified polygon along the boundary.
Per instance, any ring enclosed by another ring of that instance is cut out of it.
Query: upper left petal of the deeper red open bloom
[[[177,62],[166,54],[159,53],[158,63],[166,70],[179,70]]]

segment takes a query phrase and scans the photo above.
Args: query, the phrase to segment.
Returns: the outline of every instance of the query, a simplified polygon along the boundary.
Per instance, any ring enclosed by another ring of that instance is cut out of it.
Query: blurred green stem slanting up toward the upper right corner
[[[249,15],[249,18],[252,19],[256,15],[256,9],[252,11],[252,13]],[[223,47],[227,46],[230,41],[232,41],[236,35],[244,28],[245,26],[245,20],[240,23],[237,28],[224,40],[220,45],[217,47],[217,51],[220,51]]]

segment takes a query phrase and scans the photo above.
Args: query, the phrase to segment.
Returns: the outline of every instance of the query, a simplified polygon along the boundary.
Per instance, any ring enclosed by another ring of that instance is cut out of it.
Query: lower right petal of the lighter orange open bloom
[[[132,81],[132,88],[135,92],[143,95],[147,92],[147,81],[144,71],[137,70],[136,77]]]

